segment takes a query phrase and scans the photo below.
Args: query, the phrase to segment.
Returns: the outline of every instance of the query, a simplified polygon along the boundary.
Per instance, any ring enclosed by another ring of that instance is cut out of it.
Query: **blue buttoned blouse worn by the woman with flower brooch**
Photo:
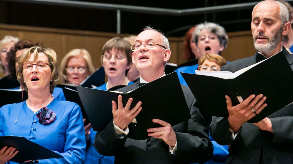
[[[56,114],[55,121],[39,123],[25,101],[0,108],[0,136],[20,136],[50,149],[64,158],[39,160],[40,164],[82,164],[86,142],[80,107],[73,102],[54,99],[47,108]],[[13,162],[9,162],[12,164]]]

